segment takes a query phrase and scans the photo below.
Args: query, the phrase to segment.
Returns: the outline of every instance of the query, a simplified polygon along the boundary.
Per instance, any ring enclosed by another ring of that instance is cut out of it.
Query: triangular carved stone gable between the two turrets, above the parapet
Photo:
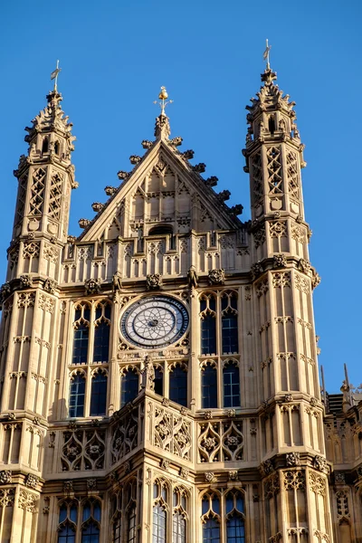
[[[242,226],[224,204],[223,195],[216,195],[213,184],[200,176],[173,141],[161,138],[148,146],[145,156],[81,234],[82,241],[132,237],[139,229],[148,235],[160,224],[172,227],[173,233]],[[201,170],[201,166],[205,167],[200,165]]]

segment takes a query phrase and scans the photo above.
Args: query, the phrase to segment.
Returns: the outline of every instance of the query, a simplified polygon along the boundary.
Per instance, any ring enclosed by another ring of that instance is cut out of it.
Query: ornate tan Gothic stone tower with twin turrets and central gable
[[[248,107],[248,223],[170,138],[166,90],[78,238],[56,90],[27,129],[1,291],[3,543],[334,540],[303,146],[275,79]]]

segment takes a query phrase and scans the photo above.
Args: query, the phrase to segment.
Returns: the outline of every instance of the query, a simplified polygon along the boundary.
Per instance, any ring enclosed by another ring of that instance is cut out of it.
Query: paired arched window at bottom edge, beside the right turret
[[[243,492],[206,491],[202,498],[203,543],[245,543]]]

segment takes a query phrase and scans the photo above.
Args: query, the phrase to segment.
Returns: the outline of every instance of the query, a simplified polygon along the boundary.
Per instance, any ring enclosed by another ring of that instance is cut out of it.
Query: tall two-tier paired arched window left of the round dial
[[[81,301],[74,309],[69,416],[107,412],[110,302]],[[80,370],[77,367],[81,367]]]

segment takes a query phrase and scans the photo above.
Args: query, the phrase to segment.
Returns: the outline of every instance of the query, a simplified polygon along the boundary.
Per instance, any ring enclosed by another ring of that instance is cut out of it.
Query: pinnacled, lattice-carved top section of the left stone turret
[[[19,236],[44,234],[65,243],[74,179],[71,152],[74,150],[72,124],[61,107],[57,89],[59,62],[52,71],[54,88],[46,96],[47,105],[26,127],[27,156],[20,157],[14,176],[19,179],[14,219],[14,241]]]

